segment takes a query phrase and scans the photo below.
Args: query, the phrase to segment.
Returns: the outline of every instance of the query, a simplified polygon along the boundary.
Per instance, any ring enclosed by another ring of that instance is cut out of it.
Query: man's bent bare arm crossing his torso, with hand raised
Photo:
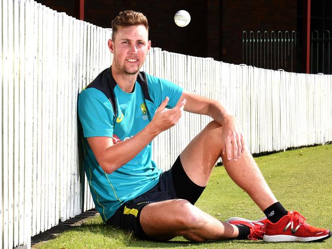
[[[107,174],[128,163],[159,133],[178,123],[186,100],[182,99],[174,108],[164,111],[167,103],[168,97],[161,103],[151,122],[128,140],[113,144],[113,139],[109,137],[87,138],[98,164]]]

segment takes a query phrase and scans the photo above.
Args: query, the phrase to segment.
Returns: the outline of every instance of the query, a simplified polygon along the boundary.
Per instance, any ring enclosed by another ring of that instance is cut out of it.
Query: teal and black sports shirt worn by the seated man
[[[86,140],[102,136],[113,138],[113,143],[121,143],[137,134],[152,120],[166,96],[169,98],[167,108],[176,105],[182,94],[182,87],[145,75],[147,89],[136,81],[134,91],[126,93],[116,83],[108,68],[85,87],[78,97],[78,115],[83,131],[84,170],[95,206],[104,221],[112,217],[124,202],[156,185],[162,172],[151,158],[152,141],[134,159],[112,174],[106,174]],[[147,91],[148,99],[145,98],[144,91]]]

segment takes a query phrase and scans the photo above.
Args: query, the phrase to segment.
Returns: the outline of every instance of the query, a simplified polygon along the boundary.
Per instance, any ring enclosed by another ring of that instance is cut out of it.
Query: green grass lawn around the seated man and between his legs
[[[290,150],[255,158],[264,177],[286,209],[297,210],[309,224],[332,229],[332,144]],[[214,168],[196,206],[218,219],[263,216],[250,197],[228,177],[224,167]],[[103,224],[100,217],[42,243],[42,248],[332,248],[332,238],[311,243],[263,241],[211,241],[192,243],[182,237],[168,242],[138,240],[130,233]]]

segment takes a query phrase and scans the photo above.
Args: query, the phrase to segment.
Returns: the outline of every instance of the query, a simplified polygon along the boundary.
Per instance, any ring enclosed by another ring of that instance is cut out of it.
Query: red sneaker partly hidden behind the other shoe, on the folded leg
[[[240,217],[232,217],[226,220],[227,223],[233,225],[246,225],[250,229],[248,239],[258,240],[262,239],[265,233],[265,225],[268,219],[263,217],[260,220],[248,220]]]

